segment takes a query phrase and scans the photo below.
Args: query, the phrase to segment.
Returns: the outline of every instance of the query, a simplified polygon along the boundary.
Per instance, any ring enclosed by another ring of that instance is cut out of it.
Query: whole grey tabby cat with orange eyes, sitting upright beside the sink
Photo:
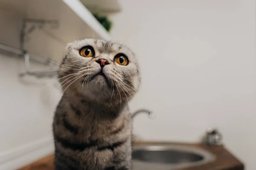
[[[130,170],[128,102],[140,85],[134,53],[119,43],[85,39],[67,45],[55,111],[56,170]]]

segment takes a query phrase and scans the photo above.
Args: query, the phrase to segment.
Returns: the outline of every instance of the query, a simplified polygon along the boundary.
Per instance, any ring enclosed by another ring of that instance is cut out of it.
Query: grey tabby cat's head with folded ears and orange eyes
[[[73,89],[94,99],[129,100],[140,86],[134,53],[125,45],[98,39],[68,44],[59,77],[64,91]]]

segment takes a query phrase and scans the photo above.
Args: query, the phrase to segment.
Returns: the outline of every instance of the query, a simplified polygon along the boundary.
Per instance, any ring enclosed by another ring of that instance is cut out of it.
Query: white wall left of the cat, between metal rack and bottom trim
[[[36,62],[32,67],[45,69]],[[0,152],[52,135],[53,113],[61,93],[56,84],[47,86],[54,79],[19,78],[23,72],[22,58],[0,54]]]

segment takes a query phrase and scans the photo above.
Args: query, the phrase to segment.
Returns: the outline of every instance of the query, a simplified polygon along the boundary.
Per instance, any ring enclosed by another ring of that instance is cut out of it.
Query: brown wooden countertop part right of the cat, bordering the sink
[[[174,142],[135,142],[134,146],[150,144],[179,144],[186,146],[200,147],[215,155],[215,160],[206,164],[187,167],[180,170],[244,170],[244,165],[235,156],[233,156],[224,146],[206,146],[204,144],[188,144]]]

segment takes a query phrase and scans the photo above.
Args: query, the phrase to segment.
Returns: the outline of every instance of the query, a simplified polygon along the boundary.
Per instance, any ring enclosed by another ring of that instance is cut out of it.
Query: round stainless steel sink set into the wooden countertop
[[[133,170],[177,170],[213,161],[207,150],[177,144],[135,146]]]

